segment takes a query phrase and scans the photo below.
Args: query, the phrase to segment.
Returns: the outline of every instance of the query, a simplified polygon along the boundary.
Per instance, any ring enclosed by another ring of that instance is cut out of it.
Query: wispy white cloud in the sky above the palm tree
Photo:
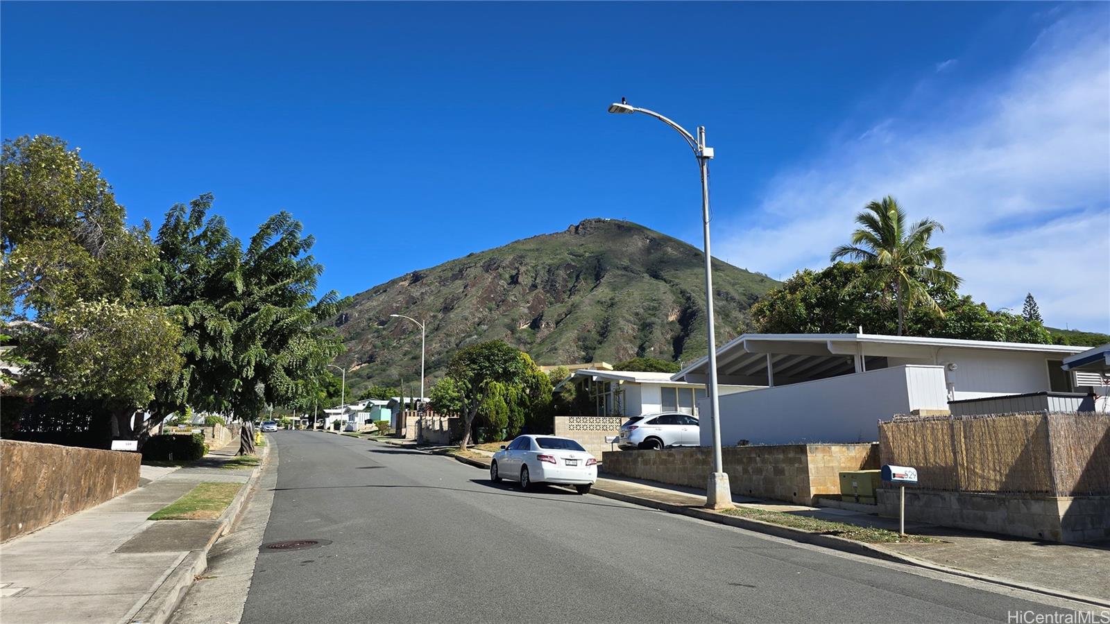
[[[1110,331],[1104,20],[1066,17],[1007,76],[948,98],[930,119],[894,111],[781,172],[754,211],[720,220],[718,255],[773,276],[826,266],[852,217],[892,194],[945,224],[935,241],[963,292],[1018,310],[1032,292],[1048,324]]]

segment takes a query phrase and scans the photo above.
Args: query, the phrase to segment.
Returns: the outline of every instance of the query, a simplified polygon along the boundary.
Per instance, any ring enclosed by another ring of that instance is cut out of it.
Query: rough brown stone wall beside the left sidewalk
[[[0,541],[139,486],[139,453],[0,440]]]

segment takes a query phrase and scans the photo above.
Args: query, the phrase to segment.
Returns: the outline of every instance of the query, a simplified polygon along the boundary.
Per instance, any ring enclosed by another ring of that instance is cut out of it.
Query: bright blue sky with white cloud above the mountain
[[[3,137],[81,147],[138,222],[289,210],[353,294],[589,217],[827,264],[891,193],[966,291],[1110,331],[1110,6],[3,2]],[[1101,288],[1093,288],[1092,284]]]

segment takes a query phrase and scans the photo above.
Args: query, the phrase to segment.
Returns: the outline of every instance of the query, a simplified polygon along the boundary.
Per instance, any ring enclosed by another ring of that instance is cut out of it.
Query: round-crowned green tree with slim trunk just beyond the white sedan
[[[447,374],[455,380],[462,394],[463,440],[465,450],[471,442],[471,429],[478,409],[492,384],[518,384],[527,369],[521,352],[500,340],[481,342],[455,353]]]

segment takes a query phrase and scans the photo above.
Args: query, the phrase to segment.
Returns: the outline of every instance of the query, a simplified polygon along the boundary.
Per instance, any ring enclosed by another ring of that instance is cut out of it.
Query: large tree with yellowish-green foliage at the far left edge
[[[131,436],[179,375],[180,329],[144,301],[155,248],[100,171],[53,137],[3,143],[0,313],[28,362],[13,392],[79,399]]]

